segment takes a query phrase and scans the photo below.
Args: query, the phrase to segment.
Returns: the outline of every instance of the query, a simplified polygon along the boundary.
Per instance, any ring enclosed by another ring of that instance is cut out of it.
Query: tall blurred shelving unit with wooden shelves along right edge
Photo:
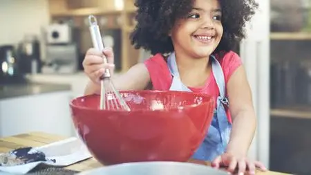
[[[311,1],[270,1],[270,169],[311,174]]]

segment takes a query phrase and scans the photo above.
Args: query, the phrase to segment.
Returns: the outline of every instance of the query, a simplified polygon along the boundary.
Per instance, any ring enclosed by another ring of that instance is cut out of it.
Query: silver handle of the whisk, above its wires
[[[100,27],[97,25],[97,19],[93,15],[88,16],[88,22],[90,24],[89,30],[91,32],[93,47],[99,51],[104,50],[104,42],[102,42],[102,35],[100,34]],[[106,57],[103,57],[104,64],[107,64],[108,61]],[[105,77],[111,77],[109,69],[105,70],[104,75],[100,77],[104,79]]]

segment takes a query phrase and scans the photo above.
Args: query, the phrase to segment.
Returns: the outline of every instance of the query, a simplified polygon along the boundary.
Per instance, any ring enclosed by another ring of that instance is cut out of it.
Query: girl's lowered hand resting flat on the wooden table
[[[225,153],[215,158],[215,160],[211,162],[211,167],[217,169],[226,167],[227,172],[230,174],[238,173],[238,175],[243,175],[245,172],[255,174],[256,167],[261,171],[267,171],[263,163],[249,160],[245,156],[235,156],[234,154],[229,153]]]

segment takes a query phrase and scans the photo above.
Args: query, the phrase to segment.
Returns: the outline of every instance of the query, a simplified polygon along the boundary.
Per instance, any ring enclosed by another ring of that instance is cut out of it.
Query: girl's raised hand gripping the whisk
[[[108,64],[104,64],[104,57],[107,58]],[[109,68],[111,76],[115,65],[113,64],[113,50],[112,48],[104,48],[102,52],[95,48],[90,48],[86,52],[83,60],[84,73],[95,83],[100,82],[100,77],[104,74],[106,68]]]

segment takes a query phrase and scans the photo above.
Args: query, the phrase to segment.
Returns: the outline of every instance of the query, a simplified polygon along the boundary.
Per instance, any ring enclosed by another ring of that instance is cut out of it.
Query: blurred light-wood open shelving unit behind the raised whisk
[[[115,62],[119,62],[118,71],[124,72],[139,62],[140,50],[135,49],[130,41],[129,35],[135,26],[135,6],[131,0],[48,0],[50,19],[52,22],[65,22],[73,26],[76,31],[75,39],[79,41],[80,59],[84,57],[86,50],[93,47],[88,31],[88,15],[95,15],[99,22],[102,36],[106,31],[120,32],[115,43],[115,52],[120,54]],[[120,44],[119,44],[120,43]],[[120,46],[119,46],[120,45]],[[115,55],[119,55],[115,54]]]

